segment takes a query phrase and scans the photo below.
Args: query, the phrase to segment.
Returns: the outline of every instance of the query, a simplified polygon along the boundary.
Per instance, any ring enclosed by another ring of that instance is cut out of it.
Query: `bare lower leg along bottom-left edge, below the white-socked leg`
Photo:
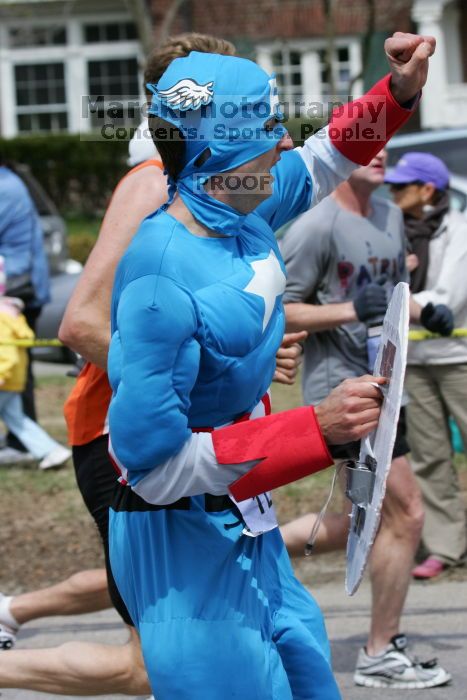
[[[130,639],[121,646],[67,642],[53,649],[1,654],[0,688],[57,695],[148,695],[139,638],[128,629]]]

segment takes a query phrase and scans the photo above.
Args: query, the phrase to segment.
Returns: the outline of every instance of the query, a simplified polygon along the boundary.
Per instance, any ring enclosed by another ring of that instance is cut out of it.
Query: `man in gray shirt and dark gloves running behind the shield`
[[[303,368],[307,404],[316,405],[344,379],[372,370],[367,325],[384,315],[395,284],[408,280],[402,214],[391,202],[373,195],[384,181],[385,162],[382,151],[313,211],[299,217],[281,241],[288,274],[284,295],[288,328],[309,333]],[[412,318],[419,319],[421,311],[411,303]],[[435,312],[444,330],[449,312],[442,308]],[[433,313],[428,316],[431,319]],[[345,460],[358,455],[358,448],[347,445],[333,454],[336,461]],[[428,688],[450,679],[437,664],[412,660],[399,629],[423,524],[408,451],[402,416],[370,560],[371,627],[354,676],[358,685],[367,687]],[[347,502],[341,515],[325,516],[315,543],[318,551],[345,546],[349,507]],[[282,528],[289,552],[303,553],[315,517],[308,514]]]

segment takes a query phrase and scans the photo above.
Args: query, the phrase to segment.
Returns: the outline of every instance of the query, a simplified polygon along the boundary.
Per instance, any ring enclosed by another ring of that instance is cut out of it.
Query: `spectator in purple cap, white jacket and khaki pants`
[[[429,153],[406,153],[388,173],[405,219],[413,298],[427,309],[449,307],[455,328],[467,328],[467,218],[449,209],[449,171]],[[423,337],[423,336],[422,336]],[[453,464],[449,417],[467,445],[467,338],[411,341],[406,388],[412,464],[425,507],[422,543],[428,557],[415,578],[429,579],[462,563],[467,548],[465,504]]]

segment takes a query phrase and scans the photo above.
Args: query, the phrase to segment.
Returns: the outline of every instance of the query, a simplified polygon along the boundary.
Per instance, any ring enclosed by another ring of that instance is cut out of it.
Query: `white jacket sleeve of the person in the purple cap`
[[[413,294],[412,297],[422,307],[429,302],[446,304],[456,315],[465,309],[467,289],[467,221],[464,221],[461,214],[455,217],[454,213],[449,214],[445,235],[448,236],[448,242],[435,285]]]

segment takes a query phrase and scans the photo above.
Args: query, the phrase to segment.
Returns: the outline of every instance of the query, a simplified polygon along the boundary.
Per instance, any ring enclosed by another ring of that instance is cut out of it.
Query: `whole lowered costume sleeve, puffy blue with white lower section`
[[[108,365],[110,454],[149,503],[227,493],[249,466],[219,470],[211,435],[188,427],[198,330],[190,295],[161,276],[134,280],[116,304]]]

